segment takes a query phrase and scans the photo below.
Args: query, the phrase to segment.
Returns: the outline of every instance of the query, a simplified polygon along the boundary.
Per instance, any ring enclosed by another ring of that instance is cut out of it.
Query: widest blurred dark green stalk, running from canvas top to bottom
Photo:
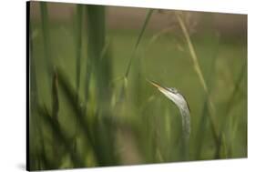
[[[105,7],[102,5],[87,5],[87,80],[86,101],[89,101],[89,82],[95,81],[96,113],[94,115],[93,133],[94,145],[97,147],[97,163],[99,166],[110,166],[118,162],[115,154],[112,126],[106,124],[104,116],[110,114],[111,61],[104,52],[106,47]],[[108,137],[107,137],[108,135]]]

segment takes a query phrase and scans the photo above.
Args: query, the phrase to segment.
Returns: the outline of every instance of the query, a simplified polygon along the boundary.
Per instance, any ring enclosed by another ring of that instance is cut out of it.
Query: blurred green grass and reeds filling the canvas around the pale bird
[[[189,102],[186,160],[247,157],[247,15],[39,2],[29,10],[28,168],[184,161],[179,109],[147,79]]]

